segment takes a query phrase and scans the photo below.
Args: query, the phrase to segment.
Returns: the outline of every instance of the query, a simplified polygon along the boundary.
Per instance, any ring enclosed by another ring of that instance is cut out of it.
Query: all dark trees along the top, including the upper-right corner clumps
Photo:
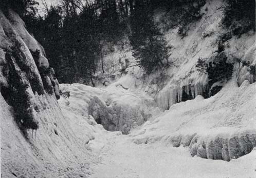
[[[188,24],[202,16],[200,8],[205,3],[205,0],[60,0],[54,7],[45,4],[43,16],[38,15],[34,0],[1,0],[0,7],[5,10],[11,7],[22,16],[28,31],[45,48],[61,83],[94,85],[97,69],[105,72],[104,46],[122,44],[119,42],[126,36],[137,65],[145,72],[168,67],[169,47],[154,22],[154,10],[166,11],[160,19],[162,30],[178,28],[178,34],[184,37]],[[237,12],[240,15],[236,21],[247,19],[250,25],[241,33],[255,30],[254,0],[227,0],[227,3],[223,21],[226,28],[234,26],[232,18]],[[241,10],[243,5],[246,8]]]

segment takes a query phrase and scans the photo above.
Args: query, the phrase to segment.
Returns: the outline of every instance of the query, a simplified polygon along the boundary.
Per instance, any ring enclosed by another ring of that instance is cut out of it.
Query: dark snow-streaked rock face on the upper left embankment
[[[38,129],[35,112],[39,107],[34,94],[49,93],[58,100],[58,80],[42,54],[43,48],[26,31],[20,17],[11,10],[5,16],[0,10],[0,19],[1,94],[13,106],[16,123],[22,130]]]

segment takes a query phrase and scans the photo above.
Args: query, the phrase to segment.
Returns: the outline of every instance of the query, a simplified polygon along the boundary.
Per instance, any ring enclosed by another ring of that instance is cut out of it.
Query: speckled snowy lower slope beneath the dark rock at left
[[[65,117],[50,96],[37,99],[45,106],[36,117],[39,129],[25,139],[1,96],[1,177],[85,177],[93,157],[84,145],[94,139],[94,127],[81,115]]]

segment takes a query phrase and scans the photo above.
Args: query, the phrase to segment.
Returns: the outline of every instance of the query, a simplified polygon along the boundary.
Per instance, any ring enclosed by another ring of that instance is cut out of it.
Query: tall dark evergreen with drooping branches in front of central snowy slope
[[[135,1],[131,16],[130,42],[138,65],[148,74],[168,66],[167,43],[160,29],[154,24],[153,9],[148,1]]]

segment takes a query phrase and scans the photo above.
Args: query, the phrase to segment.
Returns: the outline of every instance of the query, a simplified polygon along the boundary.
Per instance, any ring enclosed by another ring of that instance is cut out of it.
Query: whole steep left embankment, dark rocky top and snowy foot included
[[[0,47],[1,177],[86,177],[97,127],[63,115],[43,48],[12,10],[0,11]]]

